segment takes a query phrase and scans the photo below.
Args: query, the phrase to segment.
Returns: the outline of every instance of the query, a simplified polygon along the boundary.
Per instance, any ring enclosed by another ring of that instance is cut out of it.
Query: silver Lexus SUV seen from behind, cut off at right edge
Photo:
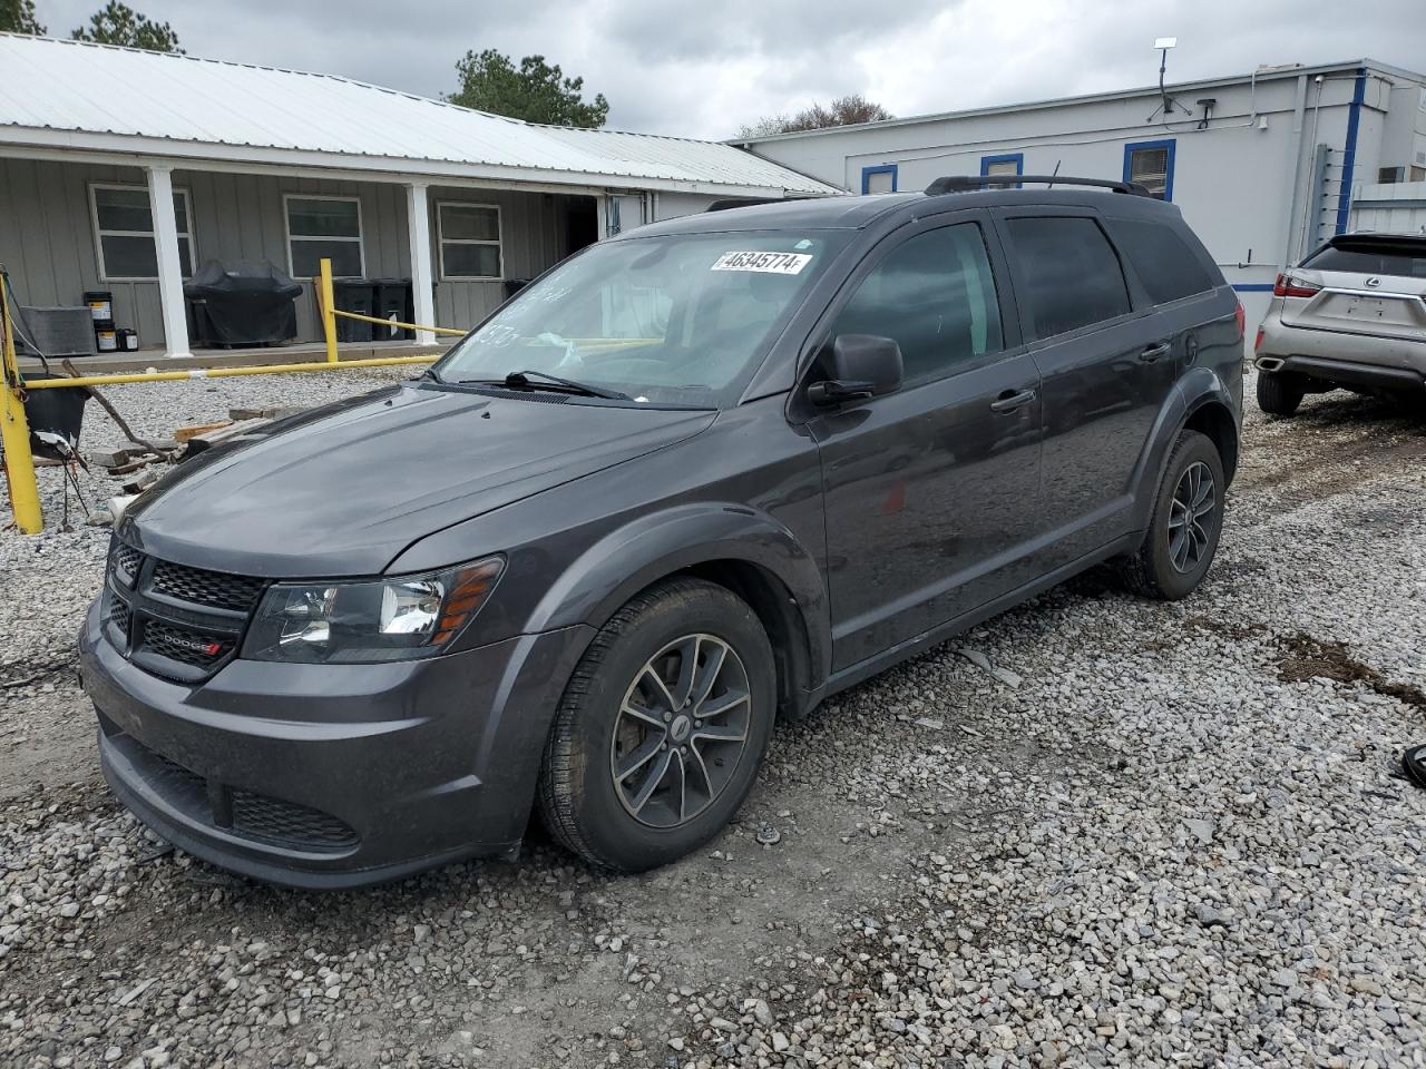
[[[1338,388],[1426,401],[1426,237],[1332,238],[1278,275],[1253,353],[1276,416]]]

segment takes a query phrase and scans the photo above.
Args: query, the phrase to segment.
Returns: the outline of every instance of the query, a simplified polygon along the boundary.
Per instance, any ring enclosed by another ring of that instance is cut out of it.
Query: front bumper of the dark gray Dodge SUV
[[[512,854],[550,717],[593,631],[566,627],[385,664],[235,660],[197,686],[80,634],[104,777],[188,852],[345,888]]]

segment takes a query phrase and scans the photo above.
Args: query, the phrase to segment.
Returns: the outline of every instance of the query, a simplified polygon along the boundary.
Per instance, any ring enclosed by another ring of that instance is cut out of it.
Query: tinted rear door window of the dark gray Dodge
[[[1052,338],[1129,311],[1119,258],[1094,220],[1008,220],[1035,336]]]

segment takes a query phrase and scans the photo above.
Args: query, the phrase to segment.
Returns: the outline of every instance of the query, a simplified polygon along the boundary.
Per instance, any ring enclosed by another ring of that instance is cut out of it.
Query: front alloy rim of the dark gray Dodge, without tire
[[[609,751],[630,817],[676,828],[723,792],[747,748],[752,690],[742,659],[713,634],[676,639],[635,673]]]

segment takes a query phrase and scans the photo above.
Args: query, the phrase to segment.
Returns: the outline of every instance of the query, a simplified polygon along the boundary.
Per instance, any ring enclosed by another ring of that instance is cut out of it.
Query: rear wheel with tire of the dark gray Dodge
[[[1218,550],[1225,485],[1224,462],[1212,440],[1196,430],[1181,432],[1154,493],[1144,543],[1121,562],[1131,590],[1178,601],[1198,589]],[[1185,523],[1189,507],[1192,522]]]

